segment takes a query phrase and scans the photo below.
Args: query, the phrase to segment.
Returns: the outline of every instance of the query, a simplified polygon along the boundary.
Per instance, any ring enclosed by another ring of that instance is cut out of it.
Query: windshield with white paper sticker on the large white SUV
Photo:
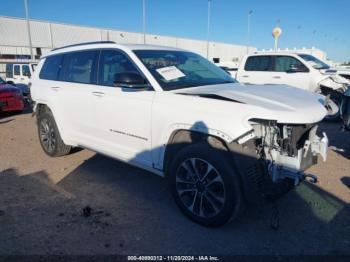
[[[164,90],[235,82],[224,70],[195,53],[171,50],[134,53]]]

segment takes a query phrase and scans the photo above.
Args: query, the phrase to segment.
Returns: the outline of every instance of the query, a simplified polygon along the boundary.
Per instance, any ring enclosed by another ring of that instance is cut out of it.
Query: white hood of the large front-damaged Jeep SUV
[[[174,91],[179,94],[215,95],[261,108],[256,118],[280,123],[316,123],[327,115],[325,97],[286,85],[222,84]],[[256,112],[256,111],[255,111]]]

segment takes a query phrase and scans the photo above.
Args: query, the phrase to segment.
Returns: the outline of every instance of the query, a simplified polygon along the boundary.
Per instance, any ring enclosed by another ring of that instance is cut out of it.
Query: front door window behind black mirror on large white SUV
[[[101,52],[99,70],[98,83],[106,86],[114,86],[116,74],[138,73],[130,59],[115,50],[103,50]]]

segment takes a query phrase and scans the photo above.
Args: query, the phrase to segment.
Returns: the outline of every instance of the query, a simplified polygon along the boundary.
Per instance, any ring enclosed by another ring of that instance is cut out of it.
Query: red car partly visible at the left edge
[[[0,77],[0,112],[22,111],[24,101],[20,89],[9,85]]]

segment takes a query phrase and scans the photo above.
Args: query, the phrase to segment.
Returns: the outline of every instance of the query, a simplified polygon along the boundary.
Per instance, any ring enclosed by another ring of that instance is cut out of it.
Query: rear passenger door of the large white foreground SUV
[[[92,117],[92,92],[96,87],[98,54],[97,50],[65,54],[59,81],[51,86],[52,95],[58,100],[58,110],[71,137],[86,147],[93,146],[96,141],[93,130],[97,123]]]

